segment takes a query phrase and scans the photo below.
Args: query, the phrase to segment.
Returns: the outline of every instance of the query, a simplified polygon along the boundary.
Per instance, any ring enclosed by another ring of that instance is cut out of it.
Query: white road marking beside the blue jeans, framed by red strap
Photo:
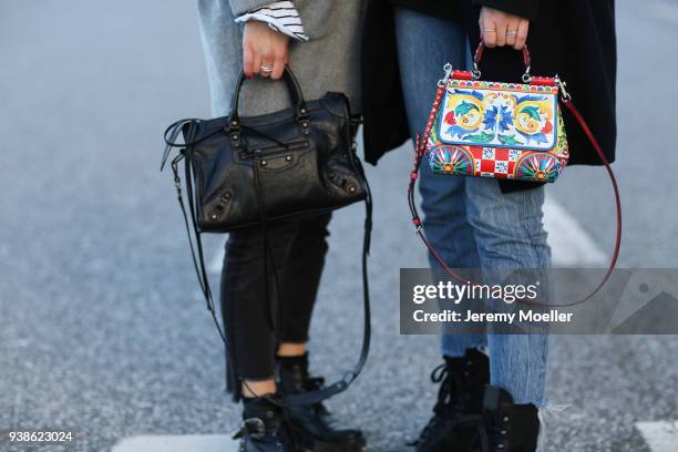
[[[606,264],[607,257],[600,247],[551,196],[546,196],[544,203],[544,227],[548,232],[555,267],[596,267]]]

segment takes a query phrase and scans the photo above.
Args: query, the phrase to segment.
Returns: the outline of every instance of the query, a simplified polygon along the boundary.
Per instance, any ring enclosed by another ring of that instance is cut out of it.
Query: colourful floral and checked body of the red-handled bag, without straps
[[[554,182],[567,164],[558,89],[450,80],[428,148],[434,173]]]

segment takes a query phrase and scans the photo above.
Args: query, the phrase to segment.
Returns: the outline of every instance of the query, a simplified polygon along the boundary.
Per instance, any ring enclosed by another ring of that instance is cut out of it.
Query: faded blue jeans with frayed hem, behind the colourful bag
[[[443,65],[469,66],[466,37],[454,22],[400,8],[396,33],[410,130],[423,132]],[[427,236],[448,265],[483,270],[551,266],[542,224],[543,188],[503,194],[496,179],[435,175],[427,162],[420,177]],[[440,268],[432,256],[429,260]],[[492,384],[507,390],[515,403],[546,404],[547,336],[443,335],[441,339],[442,353],[451,357],[485,347]]]

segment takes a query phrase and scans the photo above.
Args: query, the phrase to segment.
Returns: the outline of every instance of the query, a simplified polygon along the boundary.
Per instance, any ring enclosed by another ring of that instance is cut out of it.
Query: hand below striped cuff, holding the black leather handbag
[[[255,74],[280,79],[289,62],[289,38],[268,27],[249,21],[243,33],[243,70],[248,79]]]

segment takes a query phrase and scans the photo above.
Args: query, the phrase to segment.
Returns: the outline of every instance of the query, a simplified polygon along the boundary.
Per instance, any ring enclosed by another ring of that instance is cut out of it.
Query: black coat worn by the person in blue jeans
[[[617,47],[614,0],[369,0],[362,50],[362,92],[366,160],[372,164],[417,132],[408,127],[392,2],[462,22],[474,50],[479,42],[479,4],[531,19],[527,45],[533,75],[567,82],[573,102],[586,119],[609,162],[615,158]],[[541,4],[540,4],[541,3]],[[413,68],[415,70],[415,68]],[[520,81],[523,62],[513,49],[489,49],[483,55],[484,80]],[[442,68],[441,68],[442,72]],[[383,112],[389,114],[384,115]],[[564,112],[569,164],[599,165],[578,124]],[[388,122],[386,121],[388,119]],[[501,181],[502,191],[531,184]],[[532,185],[534,186],[534,185]]]

